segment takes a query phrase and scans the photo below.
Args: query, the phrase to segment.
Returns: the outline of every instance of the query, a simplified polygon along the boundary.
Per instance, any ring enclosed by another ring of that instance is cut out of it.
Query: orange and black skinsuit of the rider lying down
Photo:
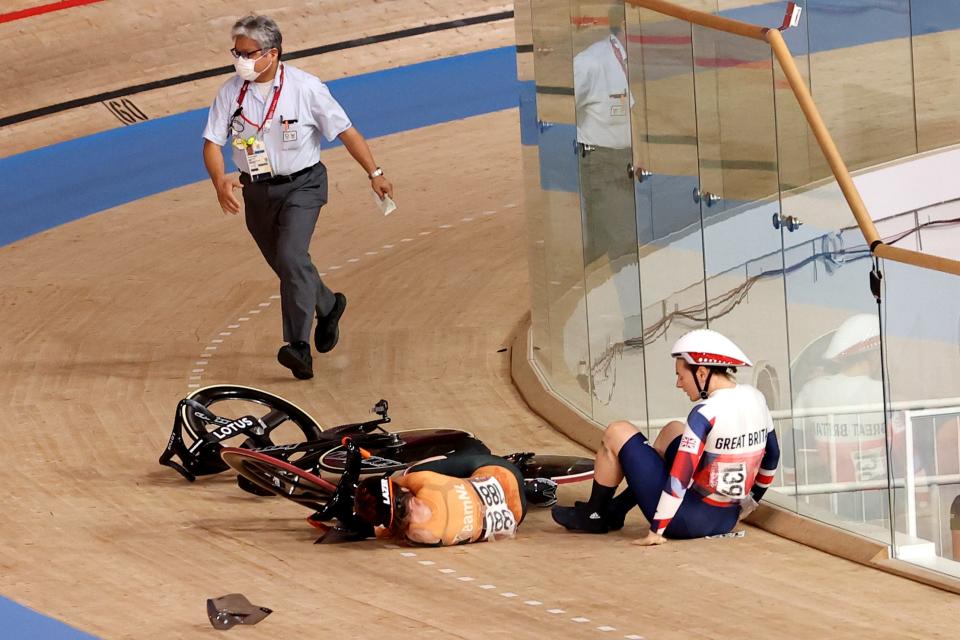
[[[448,546],[510,537],[527,512],[520,470],[496,456],[432,460],[394,480],[432,512],[428,521],[411,522],[405,531],[407,539],[418,544]],[[508,526],[500,535],[504,524]]]

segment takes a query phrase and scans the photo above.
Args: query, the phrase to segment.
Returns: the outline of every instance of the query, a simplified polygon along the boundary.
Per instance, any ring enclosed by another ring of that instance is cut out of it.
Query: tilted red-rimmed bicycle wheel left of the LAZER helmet
[[[223,461],[265,491],[283,496],[314,511],[323,509],[337,486],[320,476],[259,451],[224,447]]]

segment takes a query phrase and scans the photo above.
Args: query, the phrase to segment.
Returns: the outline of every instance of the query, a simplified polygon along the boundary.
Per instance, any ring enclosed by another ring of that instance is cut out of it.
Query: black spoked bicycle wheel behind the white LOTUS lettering
[[[224,418],[240,418],[245,415],[258,417],[265,431],[263,434],[249,434],[245,443],[249,447],[269,447],[315,440],[323,431],[309,413],[294,403],[254,387],[213,385],[197,389],[187,398],[199,402]],[[263,407],[267,410],[263,411]],[[200,439],[201,435],[208,433],[210,429],[209,424],[194,415],[187,405],[181,407],[179,417],[194,439]]]

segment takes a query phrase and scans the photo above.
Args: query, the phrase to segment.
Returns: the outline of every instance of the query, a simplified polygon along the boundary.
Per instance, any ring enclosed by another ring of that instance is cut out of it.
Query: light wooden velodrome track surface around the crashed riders
[[[274,14],[291,49],[504,8],[303,4]],[[0,25],[23,81],[0,115],[227,63],[231,3],[139,11],[108,0]],[[131,55],[83,45],[107,39]],[[331,78],[512,42],[502,21],[298,66]],[[207,104],[218,82],[137,103],[177,113]],[[0,155],[117,126],[95,107],[10,127]],[[638,516],[591,537],[534,511],[503,544],[318,547],[298,507],[157,466],[187,385],[216,382],[267,388],[325,423],[385,397],[397,428],[579,451],[527,409],[499,351],[529,308],[518,140],[516,110],[375,140],[401,206],[387,219],[345,152],[325,154],[332,197],[313,255],[350,306],[306,383],[274,361],[274,277],[207,182],[0,248],[0,593],[104,638],[212,637],[204,601],[230,592],[275,610],[233,631],[250,638],[954,637],[955,596],[754,528],[640,549]]]

